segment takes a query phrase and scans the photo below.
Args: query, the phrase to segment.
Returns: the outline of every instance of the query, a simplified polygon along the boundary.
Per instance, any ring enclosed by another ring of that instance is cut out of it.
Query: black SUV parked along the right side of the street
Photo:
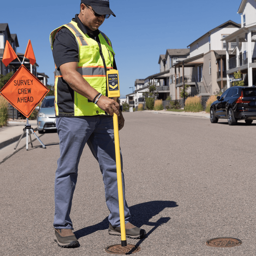
[[[252,124],[256,119],[256,87],[233,86],[217,97],[210,108],[210,119],[217,123],[219,118],[228,118],[228,124],[237,120]]]

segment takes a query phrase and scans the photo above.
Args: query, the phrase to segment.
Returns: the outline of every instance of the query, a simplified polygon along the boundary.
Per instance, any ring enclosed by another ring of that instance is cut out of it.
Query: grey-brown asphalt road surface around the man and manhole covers
[[[124,113],[120,131],[126,200],[131,222],[148,237],[127,239],[136,255],[226,256],[256,254],[255,128],[226,120],[154,113]],[[40,137],[0,164],[0,255],[108,255],[120,244],[108,235],[108,209],[98,164],[86,147],[79,164],[71,218],[80,246],[53,241],[57,133]],[[235,237],[240,246],[205,242]]]

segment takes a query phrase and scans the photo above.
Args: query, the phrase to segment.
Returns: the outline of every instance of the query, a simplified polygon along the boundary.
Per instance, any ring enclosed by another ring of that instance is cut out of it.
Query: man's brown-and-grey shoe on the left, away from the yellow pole
[[[60,247],[73,247],[78,245],[76,236],[73,234],[71,229],[67,228],[55,228],[54,241],[58,243]]]

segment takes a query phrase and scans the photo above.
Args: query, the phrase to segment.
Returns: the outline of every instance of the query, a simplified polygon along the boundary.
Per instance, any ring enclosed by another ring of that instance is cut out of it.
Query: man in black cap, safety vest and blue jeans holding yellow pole
[[[116,15],[109,8],[109,0],[81,2],[80,13],[50,35],[56,65],[55,109],[60,139],[53,226],[54,241],[61,247],[78,244],[69,214],[78,163],[86,143],[103,176],[110,211],[108,233],[121,235],[112,115],[118,116],[119,130],[124,126],[124,118],[119,103],[107,97],[106,71],[116,69],[115,53],[108,37],[98,29],[111,14]],[[125,196],[124,215],[127,237],[140,238],[146,234],[128,221],[131,215]]]

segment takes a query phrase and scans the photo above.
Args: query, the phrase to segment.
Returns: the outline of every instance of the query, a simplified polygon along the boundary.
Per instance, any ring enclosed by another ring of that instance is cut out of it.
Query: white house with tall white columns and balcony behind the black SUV
[[[241,28],[222,39],[226,48],[227,87],[229,79],[238,70],[243,74],[245,86],[256,86],[256,1],[242,0],[237,13],[241,15]],[[232,57],[228,45],[234,45]]]

